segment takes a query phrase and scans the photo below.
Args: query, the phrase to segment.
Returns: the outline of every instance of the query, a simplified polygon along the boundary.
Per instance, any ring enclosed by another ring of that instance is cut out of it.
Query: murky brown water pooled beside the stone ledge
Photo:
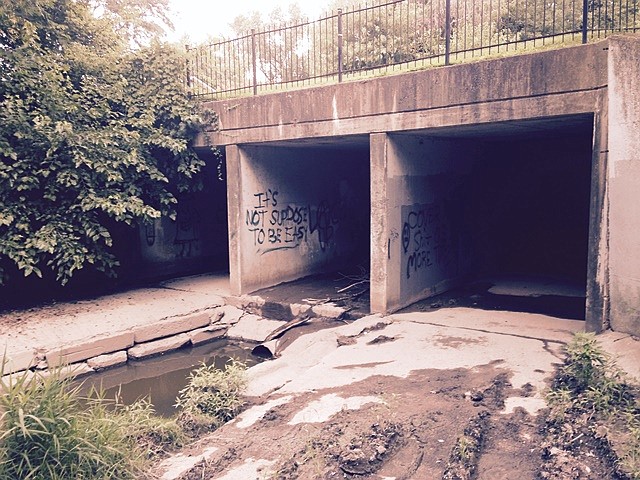
[[[176,396],[187,384],[187,377],[194,367],[205,362],[224,368],[231,358],[251,366],[259,361],[251,355],[251,348],[220,340],[146,360],[130,361],[122,367],[91,375],[84,380],[83,389],[101,388],[107,398],[118,396],[126,405],[149,397],[156,412],[168,417],[175,413]]]

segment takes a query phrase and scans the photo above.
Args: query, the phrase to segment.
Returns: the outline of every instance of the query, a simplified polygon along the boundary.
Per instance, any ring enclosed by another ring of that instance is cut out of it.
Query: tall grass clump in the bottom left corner
[[[139,478],[140,453],[121,423],[101,404],[83,406],[59,372],[3,380],[0,412],[0,478]]]

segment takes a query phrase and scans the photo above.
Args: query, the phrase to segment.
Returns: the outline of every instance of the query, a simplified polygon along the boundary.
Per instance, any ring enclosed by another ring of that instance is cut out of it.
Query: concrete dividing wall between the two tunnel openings
[[[460,140],[371,135],[373,312],[441,293],[465,274],[461,223],[471,151]]]

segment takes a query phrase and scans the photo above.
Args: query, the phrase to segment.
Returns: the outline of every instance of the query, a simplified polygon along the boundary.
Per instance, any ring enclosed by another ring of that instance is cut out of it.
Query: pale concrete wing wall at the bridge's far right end
[[[640,334],[640,38],[609,41],[611,328]]]

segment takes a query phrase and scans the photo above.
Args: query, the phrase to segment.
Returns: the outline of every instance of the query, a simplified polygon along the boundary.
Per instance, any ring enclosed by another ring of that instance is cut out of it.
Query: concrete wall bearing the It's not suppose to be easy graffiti
[[[227,148],[231,286],[247,293],[368,261],[368,152]],[[233,173],[231,173],[233,172]]]

